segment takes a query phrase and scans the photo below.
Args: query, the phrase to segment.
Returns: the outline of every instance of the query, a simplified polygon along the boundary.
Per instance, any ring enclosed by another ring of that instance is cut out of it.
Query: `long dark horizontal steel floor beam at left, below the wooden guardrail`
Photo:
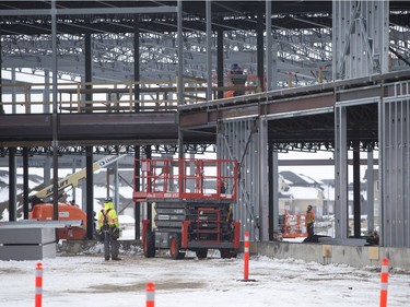
[[[177,139],[175,113],[60,114],[59,142]],[[0,120],[0,144],[51,141],[51,115],[8,115]],[[167,143],[167,142],[165,142]]]

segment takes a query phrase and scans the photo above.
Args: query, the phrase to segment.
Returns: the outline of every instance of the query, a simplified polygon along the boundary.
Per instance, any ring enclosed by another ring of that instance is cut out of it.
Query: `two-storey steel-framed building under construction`
[[[93,156],[213,151],[239,163],[234,220],[267,251],[280,228],[278,153],[329,151],[336,198],[327,243],[361,245],[365,163],[377,169],[377,178],[366,172],[377,255],[408,255],[409,10],[407,1],[0,1],[10,221],[19,160],[27,177],[30,161],[47,157],[57,178],[59,160],[83,156],[91,225]]]

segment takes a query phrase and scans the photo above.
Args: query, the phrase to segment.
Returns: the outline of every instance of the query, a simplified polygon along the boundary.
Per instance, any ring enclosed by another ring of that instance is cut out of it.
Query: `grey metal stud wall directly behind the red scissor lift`
[[[248,231],[254,240],[268,240],[267,135],[265,120],[219,123],[218,158],[239,162],[239,192],[234,220],[241,222],[242,236]]]

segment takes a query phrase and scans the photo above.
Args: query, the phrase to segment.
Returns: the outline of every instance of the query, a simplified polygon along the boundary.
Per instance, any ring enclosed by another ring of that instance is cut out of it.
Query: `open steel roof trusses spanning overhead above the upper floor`
[[[90,3],[89,3],[90,2]],[[207,17],[202,4],[184,3],[184,73],[207,79]],[[241,1],[238,1],[241,2]],[[257,44],[256,23],[258,8],[256,2],[237,5],[212,1],[212,70],[215,70],[216,33],[224,33],[224,71],[232,63],[241,63],[249,73],[256,73]],[[331,1],[329,1],[331,3]],[[142,80],[175,80],[178,67],[177,15],[175,3],[147,1],[150,12],[134,14],[138,4],[108,1],[84,1],[81,11],[70,13],[69,1],[59,1],[58,9],[67,14],[58,20],[58,70],[59,78],[70,80],[84,76],[84,33],[92,33],[93,79],[95,81],[133,80],[133,31],[136,22],[140,32],[140,78]],[[318,81],[321,70],[324,81],[331,81],[331,9],[328,3],[304,3],[276,5],[279,13],[272,14],[272,36],[278,54],[278,87],[312,85]],[[2,16],[2,68],[30,68],[34,73],[50,70],[51,37],[49,15],[50,3],[7,2],[3,12],[19,9],[21,14]],[[157,5],[157,7],[156,7]],[[199,5],[199,7],[198,7]],[[239,7],[241,5],[241,7]],[[129,11],[127,11],[127,7]],[[82,5],[79,4],[79,8]],[[87,14],[93,8],[93,14]],[[174,9],[173,9],[174,8]],[[391,69],[409,67],[409,23],[408,8],[391,4],[390,9],[390,51]],[[38,15],[33,13],[37,9]],[[144,8],[140,8],[142,12]],[[110,10],[107,14],[104,10]],[[174,10],[174,11],[173,11]],[[169,12],[174,13],[169,13]],[[136,17],[137,16],[137,17]],[[265,19],[265,16],[263,16]],[[4,34],[5,33],[5,34]],[[24,34],[23,34],[24,33]],[[30,33],[30,34],[28,34]],[[265,50],[266,51],[266,50]],[[263,52],[265,54],[265,52]],[[263,55],[266,56],[266,55]],[[42,73],[39,73],[42,74]],[[291,80],[290,80],[291,76]]]

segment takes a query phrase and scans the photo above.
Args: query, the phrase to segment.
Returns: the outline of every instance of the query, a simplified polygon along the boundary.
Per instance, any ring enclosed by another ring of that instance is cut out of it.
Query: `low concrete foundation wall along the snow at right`
[[[250,250],[270,258],[293,258],[323,264],[343,263],[356,268],[379,267],[387,257],[391,268],[410,270],[410,248],[266,241],[254,243]]]

